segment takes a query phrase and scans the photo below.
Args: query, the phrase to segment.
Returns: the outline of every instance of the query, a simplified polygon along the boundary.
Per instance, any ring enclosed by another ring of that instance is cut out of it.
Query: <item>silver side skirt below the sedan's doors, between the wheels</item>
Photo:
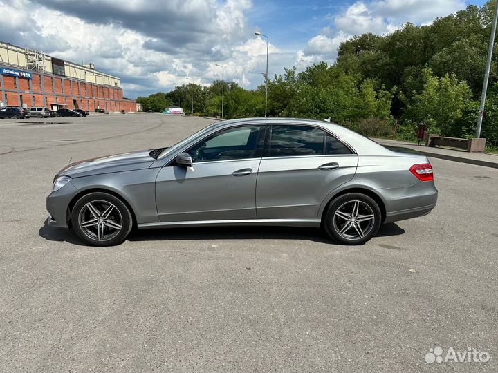
[[[154,222],[137,224],[139,229],[176,227],[219,227],[223,225],[259,225],[286,227],[320,227],[320,219],[246,219],[246,220],[192,220],[190,222]]]

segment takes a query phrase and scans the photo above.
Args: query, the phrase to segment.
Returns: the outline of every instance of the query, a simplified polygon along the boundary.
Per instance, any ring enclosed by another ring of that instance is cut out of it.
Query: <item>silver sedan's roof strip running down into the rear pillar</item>
[[[320,121],[315,119],[300,119],[300,118],[243,118],[243,119],[230,119],[222,120],[214,124],[217,128],[228,128],[231,126],[238,126],[240,124],[294,124],[294,125],[308,125],[317,126],[322,129],[333,133],[342,142],[351,146],[359,155],[393,155],[393,152],[386,149],[384,146],[377,144],[367,137],[360,135],[354,131],[349,130],[339,124]]]

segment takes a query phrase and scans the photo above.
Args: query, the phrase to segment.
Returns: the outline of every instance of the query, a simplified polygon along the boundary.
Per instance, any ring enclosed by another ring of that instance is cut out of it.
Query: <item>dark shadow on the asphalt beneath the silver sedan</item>
[[[399,236],[405,229],[398,224],[383,224],[377,237]],[[38,231],[49,241],[84,245],[69,229],[50,227],[45,224]],[[129,241],[171,240],[310,240],[320,243],[333,242],[322,229],[305,227],[190,227],[169,229],[133,229]]]

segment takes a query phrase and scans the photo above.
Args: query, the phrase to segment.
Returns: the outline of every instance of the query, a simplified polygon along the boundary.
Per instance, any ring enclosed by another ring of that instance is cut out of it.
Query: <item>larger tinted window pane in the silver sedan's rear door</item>
[[[324,134],[323,130],[315,127],[272,126],[270,157],[321,155]]]

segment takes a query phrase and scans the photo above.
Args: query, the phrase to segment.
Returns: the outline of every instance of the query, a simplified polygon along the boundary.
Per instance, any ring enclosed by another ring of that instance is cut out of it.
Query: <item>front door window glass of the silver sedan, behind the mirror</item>
[[[253,158],[260,128],[260,126],[228,128],[194,145],[187,153],[194,163]]]

